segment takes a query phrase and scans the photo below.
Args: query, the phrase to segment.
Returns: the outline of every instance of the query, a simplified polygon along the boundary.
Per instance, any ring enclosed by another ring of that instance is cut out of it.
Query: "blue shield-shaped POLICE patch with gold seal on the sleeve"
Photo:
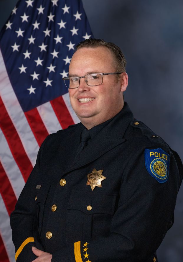
[[[145,164],[149,174],[159,183],[168,179],[170,156],[163,149],[145,149]]]

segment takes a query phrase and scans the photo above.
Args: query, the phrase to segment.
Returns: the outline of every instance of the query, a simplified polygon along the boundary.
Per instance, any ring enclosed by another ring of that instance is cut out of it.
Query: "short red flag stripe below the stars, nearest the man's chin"
[[[50,101],[50,103],[63,129],[67,128],[69,125],[74,125],[74,121],[62,96],[55,98],[54,100]]]

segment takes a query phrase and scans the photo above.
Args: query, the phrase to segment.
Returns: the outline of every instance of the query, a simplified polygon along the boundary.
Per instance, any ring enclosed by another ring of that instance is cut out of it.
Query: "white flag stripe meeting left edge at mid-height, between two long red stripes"
[[[25,182],[22,177],[22,173],[20,172],[17,163],[15,162],[13,155],[9,149],[9,145],[4,137],[4,134],[0,128],[0,161],[6,172],[6,175],[10,181],[10,184],[13,188],[15,196],[19,197]]]

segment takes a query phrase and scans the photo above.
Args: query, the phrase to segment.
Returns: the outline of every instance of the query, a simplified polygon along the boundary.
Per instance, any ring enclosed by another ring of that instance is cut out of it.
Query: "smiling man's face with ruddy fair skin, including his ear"
[[[69,76],[113,72],[116,72],[114,58],[105,47],[78,49],[69,66]],[[70,103],[83,125],[91,128],[112,118],[122,109],[122,91],[126,89],[122,83],[123,76],[127,77],[128,84],[128,76],[123,73],[119,81],[116,80],[116,75],[103,76],[103,83],[98,86],[88,86],[85,79],[81,78],[78,88],[69,89]],[[83,98],[93,100],[84,103],[79,101]]]

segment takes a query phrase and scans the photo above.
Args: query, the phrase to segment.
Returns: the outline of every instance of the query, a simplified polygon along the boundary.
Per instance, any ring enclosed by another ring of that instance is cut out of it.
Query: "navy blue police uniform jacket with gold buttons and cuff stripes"
[[[51,134],[39,149],[11,214],[17,262],[36,258],[32,245],[51,253],[52,262],[157,262],[182,181],[179,156],[126,103],[73,164],[82,129],[79,123]],[[164,183],[145,165],[145,149],[159,148],[169,155]],[[94,168],[106,179],[92,191],[87,175]]]

